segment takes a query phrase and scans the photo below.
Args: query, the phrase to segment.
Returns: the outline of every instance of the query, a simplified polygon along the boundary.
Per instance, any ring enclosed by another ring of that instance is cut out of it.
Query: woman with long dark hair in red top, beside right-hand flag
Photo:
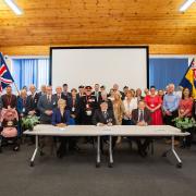
[[[188,88],[183,88],[182,91],[182,98],[180,100],[180,105],[179,105],[179,117],[180,118],[192,118],[193,115],[193,98],[192,98],[192,91]],[[187,132],[191,133],[191,135],[188,135],[185,138],[185,146],[186,147],[191,147],[192,145],[192,138],[193,138],[193,127],[187,128]]]

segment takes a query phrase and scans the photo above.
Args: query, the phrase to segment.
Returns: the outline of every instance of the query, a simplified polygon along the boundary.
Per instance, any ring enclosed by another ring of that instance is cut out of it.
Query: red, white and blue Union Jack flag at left
[[[7,63],[0,52],[0,91],[2,91],[8,85],[14,82]]]

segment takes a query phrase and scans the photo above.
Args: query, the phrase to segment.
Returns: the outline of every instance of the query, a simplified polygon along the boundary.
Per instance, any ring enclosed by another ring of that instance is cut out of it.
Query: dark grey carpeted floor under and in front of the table
[[[29,167],[34,146],[22,145],[14,152],[9,147],[0,154],[0,196],[195,196],[196,146],[177,149],[183,168],[175,168],[172,155],[162,158],[169,148],[161,140],[155,144],[155,155],[142,158],[125,143],[114,151],[114,168],[108,168],[107,157],[101,168],[95,168],[91,146],[81,146],[82,152],[37,156]]]

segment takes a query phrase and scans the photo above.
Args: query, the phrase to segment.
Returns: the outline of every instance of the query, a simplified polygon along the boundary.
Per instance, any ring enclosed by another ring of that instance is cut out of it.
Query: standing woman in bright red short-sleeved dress
[[[156,95],[156,87],[150,87],[150,94],[145,97],[146,108],[151,112],[151,125],[162,124],[161,98]]]

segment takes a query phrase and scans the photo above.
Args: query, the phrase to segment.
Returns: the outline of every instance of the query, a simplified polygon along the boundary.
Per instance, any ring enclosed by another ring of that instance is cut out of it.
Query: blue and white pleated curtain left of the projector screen
[[[38,89],[49,84],[49,59],[13,59],[12,76],[17,88],[34,84]]]

